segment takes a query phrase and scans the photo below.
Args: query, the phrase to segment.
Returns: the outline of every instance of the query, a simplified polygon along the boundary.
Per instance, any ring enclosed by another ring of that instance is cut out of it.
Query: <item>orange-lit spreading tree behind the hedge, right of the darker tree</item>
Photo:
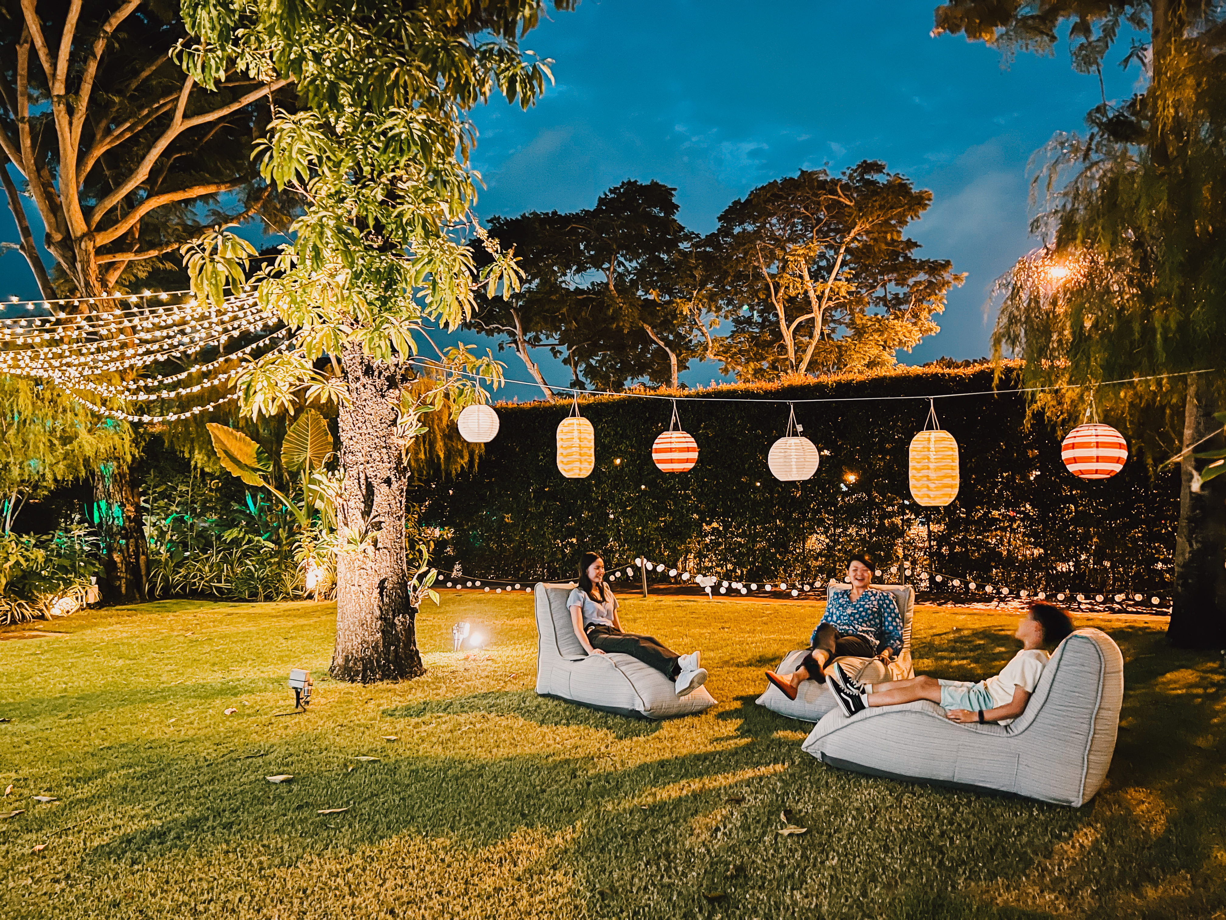
[[[705,243],[727,269],[725,369],[766,379],[890,367],[896,350],[939,331],[932,316],[965,275],[915,256],[906,227],[931,202],[863,161],[840,175],[801,171],[729,205]]]

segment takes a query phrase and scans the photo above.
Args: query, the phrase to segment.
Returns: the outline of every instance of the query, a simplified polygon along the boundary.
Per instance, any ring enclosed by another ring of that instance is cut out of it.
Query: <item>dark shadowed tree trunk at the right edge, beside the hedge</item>
[[[1204,374],[1189,374],[1183,449],[1221,426]],[[1217,439],[1201,444],[1210,450]],[[1200,485],[1190,451],[1183,458],[1179,529],[1175,543],[1175,602],[1167,638],[1181,648],[1226,648],[1226,477]]]

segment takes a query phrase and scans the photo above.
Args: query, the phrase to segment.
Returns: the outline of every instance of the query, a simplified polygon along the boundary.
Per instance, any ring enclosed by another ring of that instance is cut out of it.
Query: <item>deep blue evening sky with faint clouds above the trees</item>
[[[994,49],[932,38],[932,9],[584,0],[552,12],[526,47],[554,59],[557,85],[528,112],[499,102],[473,113],[487,183],[478,213],[590,207],[624,179],[658,179],[677,188],[680,220],[706,232],[755,185],[881,159],[933,193],[912,229],[922,253],[969,272],[938,318],[942,331],[900,359],[987,355],[988,288],[1035,245],[1026,162],[1054,132],[1084,130],[1098,85],[1073,71],[1063,42],[1054,58],[1020,55],[1003,67]],[[1135,70],[1112,63],[1106,77],[1110,98],[1133,92]],[[16,240],[7,209],[0,239]],[[37,296],[18,253],[0,256],[0,294],[10,293]],[[514,353],[500,357],[510,377],[525,377]],[[560,363],[538,358],[550,380],[569,380]],[[716,375],[699,366],[683,379]]]

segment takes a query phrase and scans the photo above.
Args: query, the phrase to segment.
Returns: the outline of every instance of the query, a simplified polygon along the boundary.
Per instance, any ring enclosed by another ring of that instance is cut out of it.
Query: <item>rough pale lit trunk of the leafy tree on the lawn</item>
[[[419,677],[405,553],[408,466],[394,439],[401,372],[358,345],[346,346],[341,363],[351,401],[340,413],[345,485],[331,673],[362,683]]]

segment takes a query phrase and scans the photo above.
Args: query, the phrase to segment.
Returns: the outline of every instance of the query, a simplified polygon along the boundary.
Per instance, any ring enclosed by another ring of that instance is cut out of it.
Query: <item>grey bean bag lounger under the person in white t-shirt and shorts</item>
[[[1107,775],[1123,696],[1119,646],[1098,629],[1078,629],[1056,649],[1025,711],[1009,725],[959,725],[928,700],[850,719],[835,708],[802,748],[831,767],[874,776],[1080,807]]]

